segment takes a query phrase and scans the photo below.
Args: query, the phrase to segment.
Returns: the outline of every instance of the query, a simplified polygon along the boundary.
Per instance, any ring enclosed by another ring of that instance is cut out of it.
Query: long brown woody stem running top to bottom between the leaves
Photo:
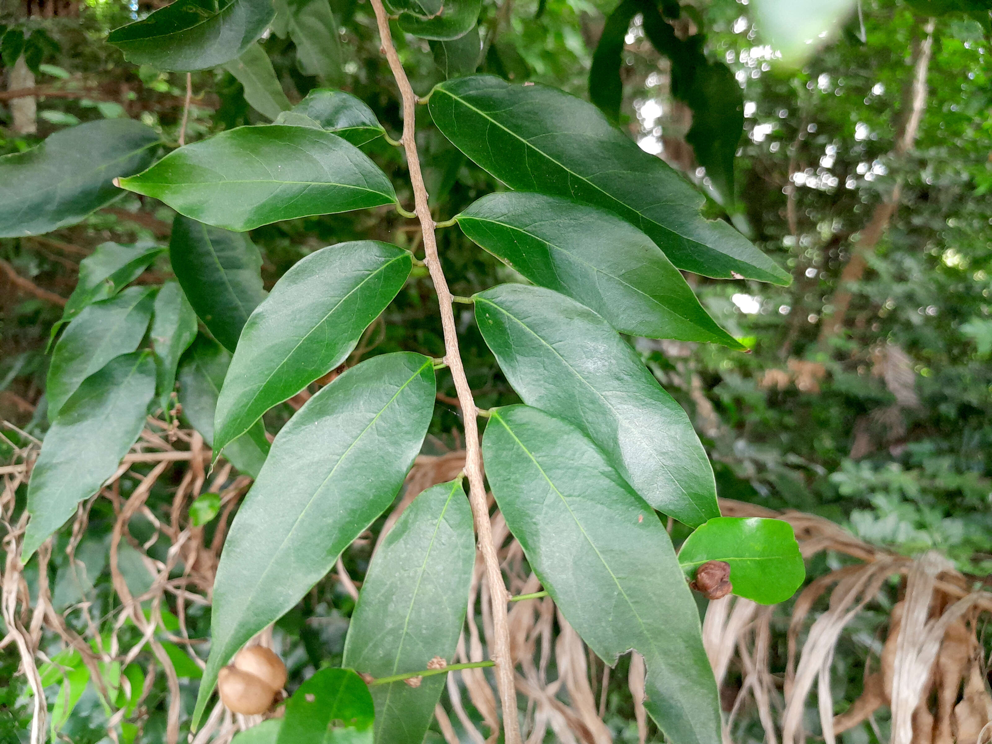
[[[493,603],[493,626],[495,630],[495,648],[490,651],[490,657],[496,663],[496,683],[499,687],[500,702],[503,708],[503,731],[506,744],[521,744],[520,724],[517,720],[517,691],[513,679],[513,661],[510,656],[510,631],[507,625],[507,601],[509,593],[503,583],[503,573],[500,570],[499,558],[496,556],[496,546],[493,544],[492,525],[489,522],[489,506],[486,503],[486,490],[482,480],[482,450],[479,447],[478,409],[468,387],[465,368],[461,363],[458,351],[458,335],[454,324],[454,312],[451,310],[451,293],[441,270],[437,257],[437,241],[434,236],[434,217],[428,204],[428,190],[424,185],[421,173],[421,161],[417,154],[415,137],[417,119],[417,94],[410,85],[410,79],[403,69],[400,56],[393,46],[393,37],[389,30],[389,16],[383,7],[382,0],[371,0],[375,10],[376,23],[379,26],[379,36],[382,40],[382,51],[386,55],[396,84],[400,88],[403,99],[403,147],[407,153],[407,166],[410,169],[410,182],[414,187],[417,217],[421,222],[424,235],[424,262],[431,272],[434,281],[434,291],[437,293],[437,303],[440,306],[440,322],[444,330],[444,363],[451,370],[454,387],[458,392],[462,419],[465,426],[465,476],[468,478],[468,501],[472,507],[475,520],[475,530],[478,538],[479,551],[486,567],[486,578]]]

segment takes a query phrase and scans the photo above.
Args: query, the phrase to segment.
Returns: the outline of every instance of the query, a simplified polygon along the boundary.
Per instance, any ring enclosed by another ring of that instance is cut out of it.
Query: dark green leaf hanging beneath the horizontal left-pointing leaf
[[[193,310],[234,351],[241,328],[266,296],[258,248],[247,235],[177,214],[169,258]]]

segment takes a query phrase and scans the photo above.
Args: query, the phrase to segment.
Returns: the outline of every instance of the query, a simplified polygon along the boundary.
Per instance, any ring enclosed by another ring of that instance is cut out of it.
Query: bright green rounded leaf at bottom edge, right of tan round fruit
[[[286,702],[277,744],[372,744],[368,685],[349,669],[323,669]],[[418,742],[420,744],[420,742]]]

